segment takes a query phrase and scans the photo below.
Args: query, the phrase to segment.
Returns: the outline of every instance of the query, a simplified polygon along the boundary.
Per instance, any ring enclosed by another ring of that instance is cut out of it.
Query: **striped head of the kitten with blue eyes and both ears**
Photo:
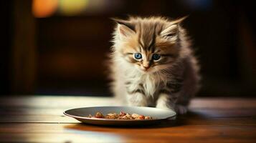
[[[185,18],[169,20],[161,17],[114,19],[114,51],[139,71],[152,73],[168,69],[181,54]]]

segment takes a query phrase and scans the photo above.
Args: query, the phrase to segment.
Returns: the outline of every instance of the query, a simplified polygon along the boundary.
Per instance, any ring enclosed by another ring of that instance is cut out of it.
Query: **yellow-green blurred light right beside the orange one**
[[[87,0],[60,0],[59,2],[60,14],[66,16],[74,16],[82,13],[88,4]]]

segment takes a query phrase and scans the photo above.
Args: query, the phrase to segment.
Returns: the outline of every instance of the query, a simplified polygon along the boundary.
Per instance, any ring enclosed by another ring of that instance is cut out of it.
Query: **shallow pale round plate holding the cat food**
[[[108,113],[119,114],[121,111],[129,114],[143,114],[144,116],[153,117],[153,119],[100,119],[87,117],[89,114],[94,115],[96,112],[101,112],[105,115]],[[65,111],[64,114],[83,123],[99,125],[156,124],[165,119],[176,118],[176,112],[172,110],[158,109],[153,107],[84,107],[69,109]]]

